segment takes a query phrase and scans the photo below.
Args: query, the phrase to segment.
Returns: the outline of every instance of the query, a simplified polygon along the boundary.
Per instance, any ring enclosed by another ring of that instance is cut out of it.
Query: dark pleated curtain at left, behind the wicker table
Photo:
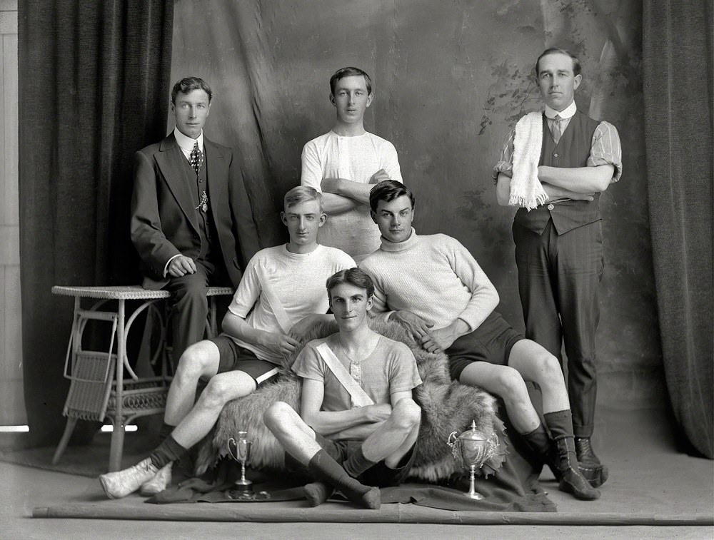
[[[165,135],[173,0],[19,2],[23,375],[32,444],[54,443],[71,301],[139,282],[132,153]]]

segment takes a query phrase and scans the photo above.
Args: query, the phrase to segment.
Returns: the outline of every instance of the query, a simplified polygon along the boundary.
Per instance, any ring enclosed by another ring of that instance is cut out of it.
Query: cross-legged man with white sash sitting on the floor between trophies
[[[301,412],[276,402],[263,420],[286,450],[288,467],[306,467],[316,480],[305,486],[311,506],[338,489],[376,509],[378,486],[399,484],[411,468],[421,421],[412,389],[421,378],[406,345],[368,327],[368,275],[341,270],[327,290],[339,332],[308,342],[293,364],[302,377]]]

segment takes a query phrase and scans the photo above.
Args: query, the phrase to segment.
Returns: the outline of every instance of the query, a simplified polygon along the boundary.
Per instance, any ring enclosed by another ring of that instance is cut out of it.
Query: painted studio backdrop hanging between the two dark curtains
[[[240,149],[271,244],[283,227],[267,209],[300,182],[303,144],[334,122],[331,74],[363,68],[375,94],[365,126],[396,146],[417,199],[417,231],[466,245],[522,330],[515,209],[497,205],[492,168],[518,118],[540,106],[535,58],[552,44],[572,50],[583,66],[578,107],[614,123],[624,149],[623,178],[601,202],[600,403],[641,407],[665,390],[643,200],[640,2],[602,4],[178,1],[171,80],[211,83],[206,133]]]

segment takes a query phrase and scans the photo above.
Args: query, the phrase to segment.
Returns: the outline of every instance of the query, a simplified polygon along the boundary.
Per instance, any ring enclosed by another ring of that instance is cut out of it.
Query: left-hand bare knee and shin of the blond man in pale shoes
[[[216,375],[220,360],[218,347],[208,340],[194,343],[183,352],[181,360],[178,361],[176,375],[169,387],[169,396],[166,398],[164,412],[166,424],[176,426],[186,417],[196,401],[198,379]]]

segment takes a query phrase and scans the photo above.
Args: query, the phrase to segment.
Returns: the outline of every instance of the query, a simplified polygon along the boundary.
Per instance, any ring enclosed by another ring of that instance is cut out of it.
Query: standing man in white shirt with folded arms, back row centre
[[[372,81],[361,69],[341,68],[330,78],[335,125],[303,148],[301,184],[323,192],[328,222],[324,245],[340,248],[358,263],[379,247],[369,218],[369,190],[381,180],[402,181],[392,143],[364,129],[374,99]]]

